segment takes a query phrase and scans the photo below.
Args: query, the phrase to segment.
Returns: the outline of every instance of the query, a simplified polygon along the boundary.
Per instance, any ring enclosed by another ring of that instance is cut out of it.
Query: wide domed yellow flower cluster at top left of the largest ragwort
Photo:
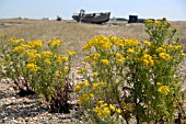
[[[90,49],[92,46],[95,47],[101,47],[103,49],[111,49],[111,47],[113,46],[112,42],[109,41],[109,38],[101,35],[101,36],[95,36],[92,40],[90,40],[84,46],[83,46],[83,50],[88,50]]]

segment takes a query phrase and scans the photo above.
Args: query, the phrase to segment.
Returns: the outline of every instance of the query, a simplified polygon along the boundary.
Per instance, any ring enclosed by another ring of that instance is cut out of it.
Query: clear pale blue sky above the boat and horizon
[[[186,0],[0,0],[0,19],[28,18],[71,20],[80,9],[91,12],[111,11],[111,18],[137,14],[143,19],[186,21]]]

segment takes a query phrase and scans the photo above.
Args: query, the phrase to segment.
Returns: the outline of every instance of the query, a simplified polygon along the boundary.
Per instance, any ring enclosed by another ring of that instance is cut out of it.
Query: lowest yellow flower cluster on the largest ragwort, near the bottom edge
[[[97,105],[93,109],[93,111],[98,117],[107,117],[112,112],[116,112],[117,114],[121,113],[120,109],[116,109],[113,104],[108,105],[102,100],[97,102]]]

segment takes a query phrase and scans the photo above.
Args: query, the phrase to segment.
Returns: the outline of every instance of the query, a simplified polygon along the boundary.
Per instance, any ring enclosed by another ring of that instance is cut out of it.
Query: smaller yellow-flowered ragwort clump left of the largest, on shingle
[[[61,40],[51,38],[48,47],[44,48],[44,41],[27,41],[11,38],[3,46],[4,77],[16,80],[38,94],[45,105],[54,112],[69,112],[68,101],[72,92],[69,82],[71,58],[74,52],[67,50],[61,55]],[[21,89],[21,87],[19,87]]]

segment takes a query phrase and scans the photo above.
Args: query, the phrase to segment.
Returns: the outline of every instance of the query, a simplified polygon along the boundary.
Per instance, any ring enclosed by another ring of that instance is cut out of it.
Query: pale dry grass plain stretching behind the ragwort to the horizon
[[[186,22],[172,22],[177,29],[177,36],[186,49]],[[42,20],[0,20],[0,35],[25,40],[45,40],[51,37],[62,38],[65,49],[75,50],[77,59],[82,58],[84,53],[82,46],[90,38],[96,35],[114,35],[118,37],[136,37],[138,40],[148,38],[144,25],[127,24],[127,22],[111,21],[106,25],[78,23],[75,21],[42,21]]]

